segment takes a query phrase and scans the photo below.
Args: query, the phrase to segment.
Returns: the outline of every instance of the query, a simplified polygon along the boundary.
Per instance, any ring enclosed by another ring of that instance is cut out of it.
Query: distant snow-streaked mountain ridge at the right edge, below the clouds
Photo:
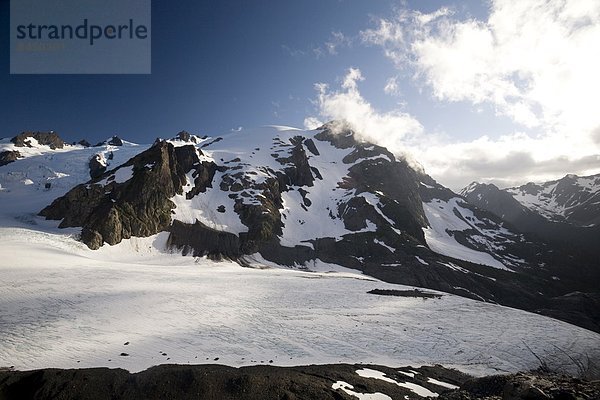
[[[567,175],[507,189],[474,182],[461,194],[523,232],[600,255],[600,175]]]

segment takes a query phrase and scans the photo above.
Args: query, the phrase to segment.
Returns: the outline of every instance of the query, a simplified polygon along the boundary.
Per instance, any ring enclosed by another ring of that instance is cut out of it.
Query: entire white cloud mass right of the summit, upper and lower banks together
[[[355,69],[342,91],[317,86],[321,118],[346,119],[370,140],[410,152],[453,189],[473,180],[507,186],[600,172],[600,2],[492,0],[485,20],[460,20],[448,8],[401,10],[361,38],[436,101],[491,105],[514,121],[513,133],[482,132],[465,142],[424,132],[401,110],[375,110]],[[384,92],[397,87],[388,80]]]

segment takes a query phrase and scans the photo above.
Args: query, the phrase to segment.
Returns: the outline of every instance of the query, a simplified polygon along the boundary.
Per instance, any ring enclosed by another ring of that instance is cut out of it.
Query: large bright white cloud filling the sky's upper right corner
[[[525,127],[600,126],[600,2],[494,0],[485,21],[402,10],[361,32],[443,101],[490,103]]]

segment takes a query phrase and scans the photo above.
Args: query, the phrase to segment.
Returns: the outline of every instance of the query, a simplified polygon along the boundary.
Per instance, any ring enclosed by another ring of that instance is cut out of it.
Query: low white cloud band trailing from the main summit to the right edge
[[[425,172],[456,191],[472,181],[506,187],[546,181],[566,173],[600,172],[597,151],[600,129],[595,132],[596,145],[591,147],[586,136],[561,133],[534,136],[517,132],[456,142],[447,136],[425,132],[421,123],[408,113],[376,110],[359,91],[359,82],[364,80],[359,69],[350,68],[342,79],[341,90],[316,84],[319,118],[306,118],[305,127],[314,129],[323,120],[346,121],[364,140],[406,157],[415,168],[422,166]]]

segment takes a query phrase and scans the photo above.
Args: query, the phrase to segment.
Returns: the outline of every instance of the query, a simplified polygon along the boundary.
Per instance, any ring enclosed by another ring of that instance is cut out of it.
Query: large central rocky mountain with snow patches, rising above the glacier
[[[51,226],[40,213],[91,249],[163,234],[184,255],[351,268],[599,329],[597,296],[574,293],[596,289],[595,265],[337,128],[182,132],[140,146],[6,142],[0,150],[22,157],[0,167],[2,223]]]

